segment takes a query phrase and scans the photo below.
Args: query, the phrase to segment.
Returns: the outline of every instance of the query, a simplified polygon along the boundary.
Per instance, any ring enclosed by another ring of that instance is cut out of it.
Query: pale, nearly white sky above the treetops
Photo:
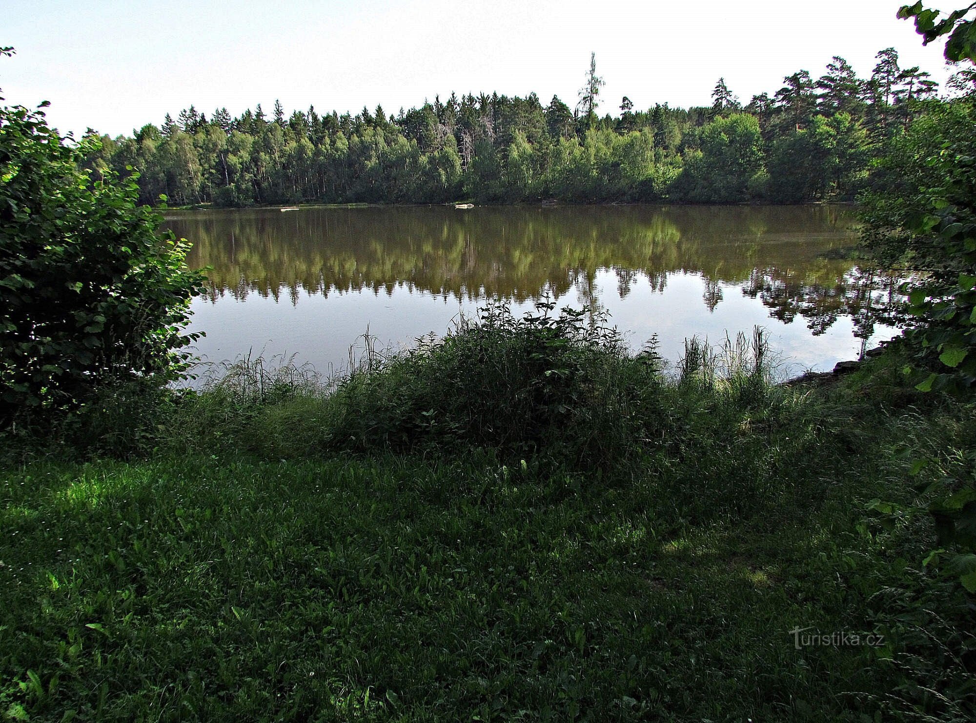
[[[711,104],[719,76],[743,102],[783,76],[816,79],[834,55],[861,77],[894,47],[902,67],[944,82],[942,44],[921,46],[900,0],[0,0],[7,104],[50,100],[62,133],[111,136],[159,125],[190,104],[208,117],[262,103],[270,113],[387,114],[479,92],[558,95],[570,107],[590,52],[606,85],[599,112]],[[955,4],[932,2],[936,8]]]

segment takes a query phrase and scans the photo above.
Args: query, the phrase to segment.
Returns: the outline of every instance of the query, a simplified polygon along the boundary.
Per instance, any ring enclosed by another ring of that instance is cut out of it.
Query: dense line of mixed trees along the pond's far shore
[[[719,79],[710,107],[657,104],[597,115],[602,80],[590,60],[577,107],[553,97],[435,98],[395,116],[314,107],[286,116],[276,102],[237,118],[193,106],[132,138],[102,138],[87,163],[139,173],[142,201],[220,206],[319,201],[440,203],[800,202],[851,198],[888,143],[942,101],[917,67],[889,48],[870,78],[834,57],[743,106]],[[960,75],[956,86],[970,86]],[[94,132],[90,132],[94,135]]]

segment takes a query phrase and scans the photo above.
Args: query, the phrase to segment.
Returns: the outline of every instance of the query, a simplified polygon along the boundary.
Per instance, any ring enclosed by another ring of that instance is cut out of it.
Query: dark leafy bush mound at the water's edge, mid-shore
[[[341,426],[358,444],[458,441],[589,460],[622,453],[649,422],[638,409],[658,386],[656,357],[629,358],[601,320],[552,310],[544,302],[518,319],[490,306],[480,322],[393,358],[384,374],[353,376],[337,395]]]

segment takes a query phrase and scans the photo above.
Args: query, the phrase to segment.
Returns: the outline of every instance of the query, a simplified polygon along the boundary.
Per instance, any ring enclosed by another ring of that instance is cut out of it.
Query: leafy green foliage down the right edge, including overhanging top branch
[[[976,59],[972,8],[936,22],[938,11],[921,3],[899,17],[915,17],[926,42],[956,31],[946,57]],[[960,21],[961,20],[961,21]],[[958,23],[958,24],[957,24]],[[902,650],[891,666],[901,678],[886,703],[895,719],[972,720],[972,593],[976,592],[976,452],[971,393],[976,384],[976,110],[972,99],[933,107],[896,139],[866,201],[866,241],[875,259],[913,274],[902,291],[914,323],[900,344],[911,364],[906,379],[921,392],[962,392],[967,400],[938,395],[960,428],[933,429],[919,444],[913,429],[898,450],[910,462],[916,494],[908,500],[874,500],[874,519],[862,523],[911,530],[918,543],[909,559],[896,560],[901,580],[875,595],[878,617]],[[913,369],[914,368],[914,369]],[[917,564],[919,558],[928,552]]]

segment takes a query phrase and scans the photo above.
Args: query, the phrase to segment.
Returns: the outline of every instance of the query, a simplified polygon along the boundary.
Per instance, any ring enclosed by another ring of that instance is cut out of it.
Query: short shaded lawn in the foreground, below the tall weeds
[[[695,527],[651,480],[587,482],[31,465],[4,490],[0,635],[5,678],[43,691],[5,695],[42,719],[844,717],[859,654],[788,634],[851,624],[833,525]]]

